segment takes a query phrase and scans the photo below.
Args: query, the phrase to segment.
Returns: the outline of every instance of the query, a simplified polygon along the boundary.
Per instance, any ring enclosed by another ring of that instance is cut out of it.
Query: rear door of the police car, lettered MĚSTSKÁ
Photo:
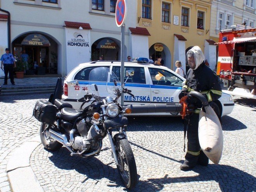
[[[120,79],[120,66],[113,66],[112,71]],[[128,78],[125,88],[131,90],[135,98],[128,94],[124,96],[124,104],[146,104],[150,103],[150,86],[149,78],[145,75],[145,67],[125,66],[125,71],[134,70],[134,76]],[[125,76],[125,80],[126,80]]]

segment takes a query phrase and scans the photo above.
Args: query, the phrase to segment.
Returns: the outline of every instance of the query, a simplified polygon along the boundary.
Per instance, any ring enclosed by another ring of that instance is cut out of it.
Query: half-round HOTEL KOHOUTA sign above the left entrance
[[[23,41],[21,42],[21,45],[49,47],[50,42],[45,36],[43,36],[41,34],[33,33],[33,34],[30,34],[30,35],[26,36],[23,39]]]

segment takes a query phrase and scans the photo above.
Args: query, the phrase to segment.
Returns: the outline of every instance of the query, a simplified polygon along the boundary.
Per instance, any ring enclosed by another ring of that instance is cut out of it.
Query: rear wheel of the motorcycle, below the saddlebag
[[[42,123],[40,128],[40,138],[43,146],[51,151],[59,150],[62,147],[62,144],[50,138],[50,135],[46,133],[46,130],[49,130],[48,124]]]

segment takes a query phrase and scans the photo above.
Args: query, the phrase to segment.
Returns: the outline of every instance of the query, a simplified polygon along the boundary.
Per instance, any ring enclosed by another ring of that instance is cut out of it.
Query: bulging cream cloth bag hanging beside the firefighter
[[[204,154],[214,163],[220,162],[223,150],[223,134],[220,120],[211,106],[205,106],[199,114],[198,137]]]

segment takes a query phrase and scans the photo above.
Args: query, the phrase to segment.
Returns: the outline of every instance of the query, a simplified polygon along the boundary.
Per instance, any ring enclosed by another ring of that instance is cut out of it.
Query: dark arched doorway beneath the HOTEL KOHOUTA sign
[[[12,42],[12,48],[18,62],[21,61],[22,53],[28,54],[27,74],[31,74],[31,70],[32,74],[57,74],[58,44],[49,36],[41,33],[25,33]],[[35,62],[38,65],[36,72],[33,71]]]

